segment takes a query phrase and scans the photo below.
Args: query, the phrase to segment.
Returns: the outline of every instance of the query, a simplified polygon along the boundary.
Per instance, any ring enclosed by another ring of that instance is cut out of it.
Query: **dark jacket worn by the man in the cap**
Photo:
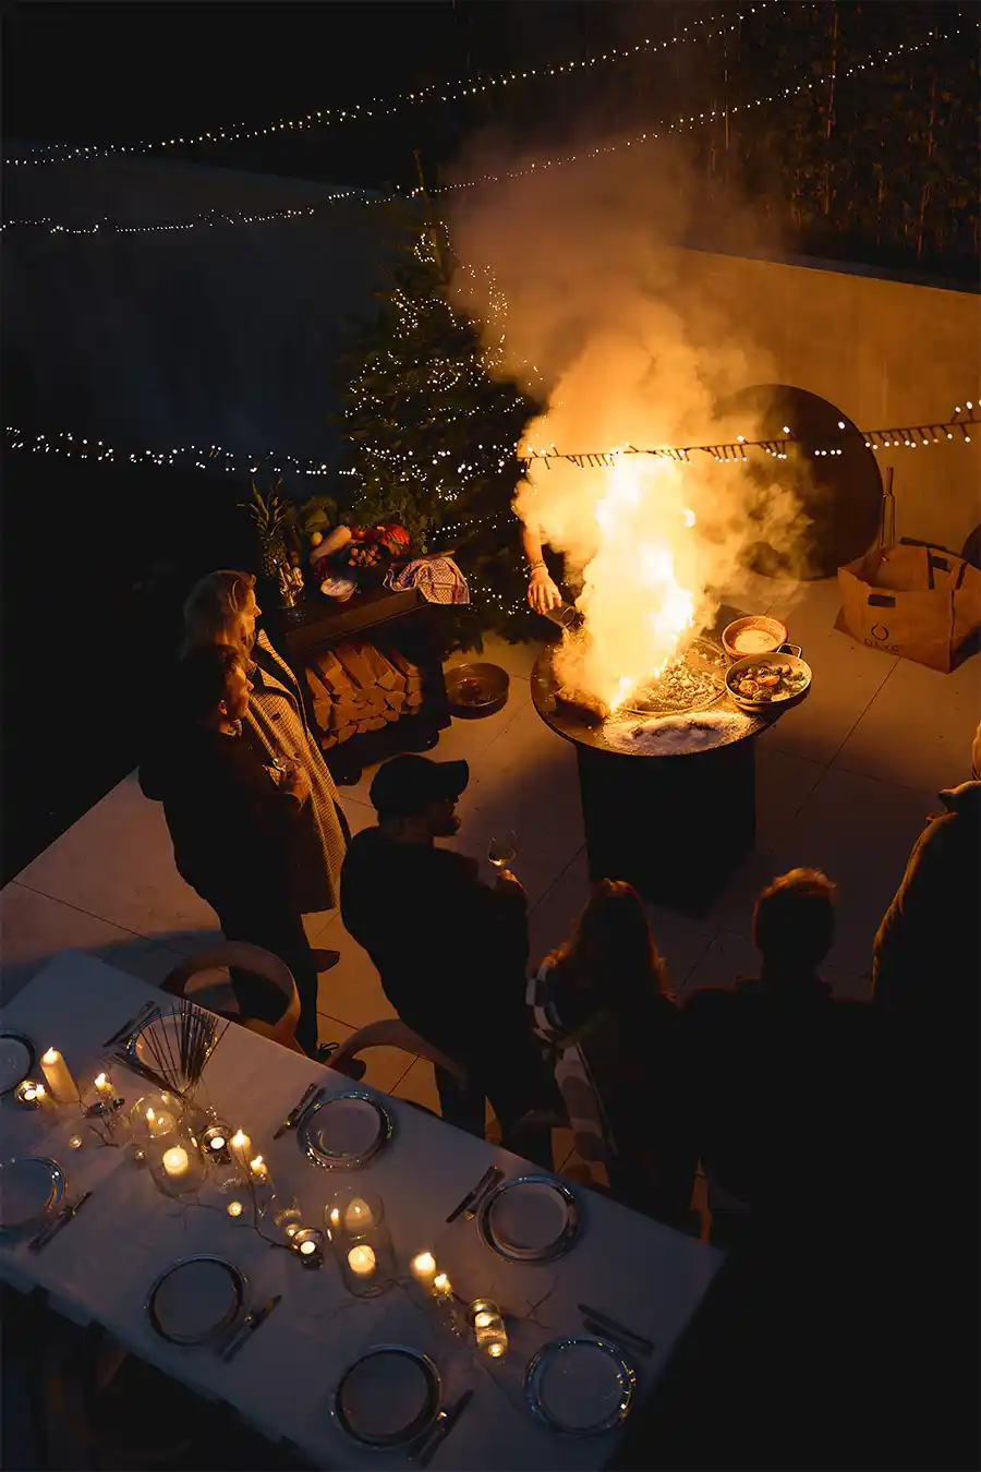
[[[524,896],[478,879],[450,849],[357,833],[341,870],[341,919],[409,1027],[465,1067],[540,1067],[525,1010]]]

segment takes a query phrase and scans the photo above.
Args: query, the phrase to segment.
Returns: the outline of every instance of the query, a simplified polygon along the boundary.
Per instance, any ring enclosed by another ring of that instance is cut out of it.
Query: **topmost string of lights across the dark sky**
[[[768,6],[775,4],[777,0],[756,0],[756,4],[749,6],[749,15],[756,15],[757,12],[766,10]],[[100,159],[112,155],[131,155],[131,153],[156,153],[166,152],[168,149],[194,146],[201,143],[237,143],[243,138],[265,138],[274,137],[275,134],[285,132],[303,132],[309,128],[331,128],[337,124],[356,122],[362,118],[390,118],[400,112],[403,107],[415,107],[425,102],[460,102],[466,97],[477,97],[481,93],[493,91],[497,87],[513,87],[522,82],[543,81],[549,77],[574,77],[582,72],[588,72],[593,66],[602,66],[604,62],[618,60],[632,60],[643,53],[650,52],[657,54],[674,46],[681,46],[687,41],[712,41],[722,35],[729,35],[738,29],[738,25],[746,19],[744,13],[740,13],[735,21],[728,25],[719,25],[715,31],[706,31],[704,35],[699,34],[706,25],[716,21],[716,16],[706,16],[702,21],[691,21],[690,25],[684,25],[677,35],[672,35],[669,41],[656,41],[647,37],[638,41],[637,46],[607,46],[607,49],[596,56],[587,56],[584,60],[562,62],[557,66],[529,66],[527,71],[521,72],[504,72],[500,77],[485,77],[479,81],[468,78],[456,82],[431,82],[427,87],[419,87],[410,93],[402,93],[400,96],[385,100],[384,97],[372,97],[366,103],[356,103],[352,107],[327,107],[316,112],[307,112],[300,118],[281,118],[278,122],[266,124],[263,128],[249,128],[244,122],[229,124],[224,128],[216,128],[213,132],[199,132],[188,137],[178,138],[160,138],[156,143],[131,143],[131,144],[93,144],[90,147],[74,147],[71,143],[44,143],[29,147],[29,152],[21,158],[9,158],[3,162],[9,166],[22,166],[31,163],[75,163],[85,159]]]

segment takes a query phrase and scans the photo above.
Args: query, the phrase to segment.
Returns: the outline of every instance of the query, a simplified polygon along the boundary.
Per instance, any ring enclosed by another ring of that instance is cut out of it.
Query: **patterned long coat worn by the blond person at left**
[[[344,833],[337,811],[337,788],[324,754],[310,732],[300,686],[279,658],[265,630],[252,651],[249,679],[253,693],[246,721],[274,761],[297,761],[310,779],[315,852],[300,876],[300,910],[334,910],[340,904]]]

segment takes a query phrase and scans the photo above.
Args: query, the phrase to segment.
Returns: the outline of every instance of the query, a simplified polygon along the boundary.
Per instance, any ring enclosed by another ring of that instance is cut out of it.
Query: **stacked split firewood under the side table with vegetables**
[[[422,674],[397,649],[349,640],[312,657],[306,680],[321,745],[337,746],[359,732],[412,715],[422,705]]]

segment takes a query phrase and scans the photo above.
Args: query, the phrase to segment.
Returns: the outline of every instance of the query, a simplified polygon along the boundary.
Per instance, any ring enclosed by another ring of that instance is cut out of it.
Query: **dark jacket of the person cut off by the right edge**
[[[981,782],[941,792],[885,913],[872,964],[882,1013],[944,1014],[977,1042],[981,969]]]

